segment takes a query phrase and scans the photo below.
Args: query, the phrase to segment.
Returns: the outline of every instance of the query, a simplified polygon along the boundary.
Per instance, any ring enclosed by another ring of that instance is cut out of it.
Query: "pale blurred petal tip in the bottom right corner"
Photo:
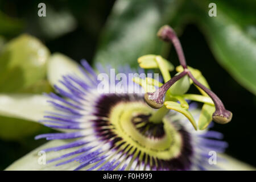
[[[226,162],[218,162],[218,167],[228,171],[255,171],[256,168],[249,164],[243,163],[240,160],[234,159],[226,154],[218,154],[221,158],[224,158]]]

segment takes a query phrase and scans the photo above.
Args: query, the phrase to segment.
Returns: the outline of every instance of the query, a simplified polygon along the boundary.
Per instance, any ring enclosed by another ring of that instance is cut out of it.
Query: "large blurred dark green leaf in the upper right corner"
[[[226,13],[221,3],[217,5],[216,17],[205,13],[201,6],[198,22],[218,62],[242,86],[256,94],[256,40]]]

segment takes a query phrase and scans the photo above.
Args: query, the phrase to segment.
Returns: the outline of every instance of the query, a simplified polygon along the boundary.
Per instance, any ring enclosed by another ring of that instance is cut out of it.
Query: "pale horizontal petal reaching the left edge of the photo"
[[[0,115],[36,122],[51,110],[47,100],[37,94],[0,94]]]

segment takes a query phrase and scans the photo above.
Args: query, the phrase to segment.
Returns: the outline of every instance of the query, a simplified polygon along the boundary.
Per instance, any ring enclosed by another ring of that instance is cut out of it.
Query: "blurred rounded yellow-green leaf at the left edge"
[[[21,35],[0,55],[0,92],[19,92],[46,77],[48,49],[36,38]]]

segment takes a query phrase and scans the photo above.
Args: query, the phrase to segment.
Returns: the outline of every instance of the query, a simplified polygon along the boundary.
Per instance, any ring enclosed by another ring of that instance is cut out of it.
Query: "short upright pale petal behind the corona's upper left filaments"
[[[49,83],[62,86],[60,80],[62,76],[68,74],[80,75],[79,64],[61,53],[53,53],[47,64],[47,78]],[[62,87],[63,88],[63,87]]]

